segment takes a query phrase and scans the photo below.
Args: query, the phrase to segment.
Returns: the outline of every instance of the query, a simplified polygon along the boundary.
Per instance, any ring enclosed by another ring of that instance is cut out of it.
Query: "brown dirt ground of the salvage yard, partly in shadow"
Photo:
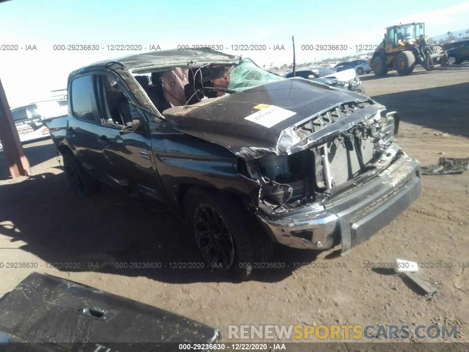
[[[422,165],[469,156],[469,65],[361,78],[370,96],[401,113],[398,143]],[[50,140],[24,147],[34,173],[29,178],[9,179],[0,153],[0,262],[38,268],[0,269],[0,296],[35,270],[196,319],[225,336],[227,324],[437,323],[457,324],[459,341],[469,341],[469,172],[423,176],[420,198],[348,255],[278,247],[272,262],[286,268],[260,269],[250,281],[233,283],[209,269],[116,268],[201,259],[184,226],[164,209],[113,191],[77,199]],[[396,258],[450,263],[419,271],[440,297],[429,300],[401,277],[366,268]],[[53,262],[81,267],[47,267]],[[298,262],[309,266],[295,269]]]

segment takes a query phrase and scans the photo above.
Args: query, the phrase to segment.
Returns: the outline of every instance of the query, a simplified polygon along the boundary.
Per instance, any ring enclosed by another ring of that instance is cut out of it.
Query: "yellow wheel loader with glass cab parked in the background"
[[[375,76],[385,76],[391,69],[404,76],[412,73],[416,65],[430,71],[447,62],[446,52],[440,46],[427,43],[425,23],[414,22],[387,27],[368,64]]]

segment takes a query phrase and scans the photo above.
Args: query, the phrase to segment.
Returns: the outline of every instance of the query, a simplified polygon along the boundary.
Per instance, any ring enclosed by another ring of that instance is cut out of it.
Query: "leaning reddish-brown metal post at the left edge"
[[[7,96],[0,80],[0,141],[13,178],[31,175],[29,161],[24,155],[23,145],[11,115]]]

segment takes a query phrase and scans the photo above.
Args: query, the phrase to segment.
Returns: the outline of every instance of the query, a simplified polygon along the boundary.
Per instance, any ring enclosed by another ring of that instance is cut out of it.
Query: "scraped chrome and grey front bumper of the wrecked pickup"
[[[421,191],[419,162],[400,152],[376,176],[323,204],[279,214],[257,212],[257,218],[277,243],[324,250],[340,240],[344,253],[392,222]]]

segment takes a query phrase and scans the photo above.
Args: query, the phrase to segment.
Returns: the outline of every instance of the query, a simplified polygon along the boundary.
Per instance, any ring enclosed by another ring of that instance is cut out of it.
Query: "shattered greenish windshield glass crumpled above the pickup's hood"
[[[281,81],[285,78],[261,69],[251,59],[242,59],[228,71],[230,83],[228,89],[244,91],[270,82]]]

